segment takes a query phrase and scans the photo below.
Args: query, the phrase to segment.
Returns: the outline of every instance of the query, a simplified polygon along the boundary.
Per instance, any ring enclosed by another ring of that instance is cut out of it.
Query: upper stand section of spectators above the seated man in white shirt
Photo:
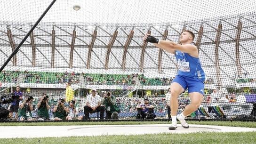
[[[133,79],[136,74],[84,74],[84,79],[88,85],[135,85]]]

